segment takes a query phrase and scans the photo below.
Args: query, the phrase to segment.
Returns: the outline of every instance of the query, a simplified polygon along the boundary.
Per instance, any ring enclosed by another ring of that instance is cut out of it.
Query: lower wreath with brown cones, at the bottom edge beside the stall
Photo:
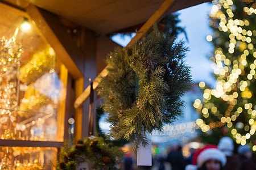
[[[61,147],[59,162],[53,165],[57,170],[73,170],[80,163],[87,162],[89,169],[118,169],[117,165],[122,162],[123,152],[112,143],[106,143],[102,137],[88,137],[71,141],[72,145],[65,142]]]

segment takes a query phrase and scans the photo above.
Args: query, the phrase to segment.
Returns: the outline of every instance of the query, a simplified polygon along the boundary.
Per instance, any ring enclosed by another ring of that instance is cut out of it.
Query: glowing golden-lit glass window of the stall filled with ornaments
[[[0,169],[51,169],[64,141],[68,71],[31,23],[22,28],[27,19],[1,7],[0,15]]]

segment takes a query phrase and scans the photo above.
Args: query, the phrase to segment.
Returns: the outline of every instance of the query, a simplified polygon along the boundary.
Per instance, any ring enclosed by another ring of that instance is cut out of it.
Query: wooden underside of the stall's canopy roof
[[[96,33],[113,33],[127,28],[134,29],[137,25],[145,23],[164,0],[3,0],[3,2],[24,10],[33,4]],[[166,14],[203,2],[209,0],[175,0]]]

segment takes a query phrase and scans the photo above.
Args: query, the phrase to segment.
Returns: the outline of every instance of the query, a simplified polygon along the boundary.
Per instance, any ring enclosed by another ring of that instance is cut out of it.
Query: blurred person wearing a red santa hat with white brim
[[[223,170],[226,156],[216,145],[206,145],[197,150],[185,170]]]

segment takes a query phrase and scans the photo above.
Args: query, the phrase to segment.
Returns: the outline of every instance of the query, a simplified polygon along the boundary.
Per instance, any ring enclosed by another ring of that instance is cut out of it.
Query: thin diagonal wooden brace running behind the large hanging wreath
[[[168,11],[168,8],[171,7],[172,3],[174,3],[174,0],[164,1],[162,3],[162,5],[158,8],[158,10],[156,10],[154,12],[154,14],[150,17],[150,19],[148,19],[147,22],[144,23],[144,25],[141,27],[141,29],[139,29],[137,34],[133,37],[133,39],[131,39],[131,41],[129,42],[128,45],[133,44],[133,42],[135,40],[141,39],[141,37],[143,37],[147,33],[147,31],[152,27],[152,25],[154,23],[156,23],[160,19],[162,19],[164,14],[166,14],[166,12]],[[93,82],[93,89],[94,90],[98,87],[98,84],[100,83],[102,76],[107,76],[109,74],[109,71],[108,71],[109,67],[110,67],[109,65],[106,66],[105,69],[103,69],[101,71],[101,73],[94,80],[94,82]],[[82,105],[82,103],[86,99],[88,99],[89,95],[90,95],[90,85],[88,87],[86,87],[84,92],[82,92],[82,94],[79,97],[77,97],[77,99],[75,100],[75,103],[74,103],[74,107],[79,108]]]

